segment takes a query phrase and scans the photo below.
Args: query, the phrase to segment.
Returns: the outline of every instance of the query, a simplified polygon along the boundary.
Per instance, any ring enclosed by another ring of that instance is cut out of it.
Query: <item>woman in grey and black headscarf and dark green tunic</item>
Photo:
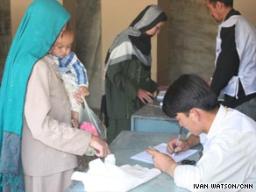
[[[151,79],[151,38],[166,22],[166,13],[149,5],[110,46],[105,60],[108,143],[131,129],[132,113],[152,102],[155,90],[167,89]]]

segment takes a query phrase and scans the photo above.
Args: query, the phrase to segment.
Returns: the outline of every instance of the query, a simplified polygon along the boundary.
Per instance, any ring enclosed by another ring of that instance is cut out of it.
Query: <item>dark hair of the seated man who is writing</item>
[[[215,110],[219,107],[216,94],[196,75],[181,75],[167,89],[162,110],[169,117],[178,112],[188,113],[192,108]]]

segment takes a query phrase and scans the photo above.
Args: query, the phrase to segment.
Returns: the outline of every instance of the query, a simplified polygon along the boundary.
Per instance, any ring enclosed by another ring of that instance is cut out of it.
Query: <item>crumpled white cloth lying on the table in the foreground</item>
[[[87,173],[75,172],[71,179],[82,181],[87,192],[124,192],[160,174],[157,168],[148,169],[139,165],[117,167],[108,162],[92,160]]]

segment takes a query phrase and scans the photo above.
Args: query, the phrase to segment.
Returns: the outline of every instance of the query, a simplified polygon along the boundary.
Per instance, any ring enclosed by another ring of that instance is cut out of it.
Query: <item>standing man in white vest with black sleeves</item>
[[[256,120],[256,30],[233,7],[233,0],[207,0],[218,26],[216,69],[209,82],[224,105]]]

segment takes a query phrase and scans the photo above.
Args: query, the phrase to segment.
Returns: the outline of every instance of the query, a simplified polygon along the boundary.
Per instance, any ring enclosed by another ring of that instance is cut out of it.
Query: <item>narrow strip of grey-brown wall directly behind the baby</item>
[[[87,69],[89,106],[99,109],[102,97],[101,0],[77,0],[75,53]]]

